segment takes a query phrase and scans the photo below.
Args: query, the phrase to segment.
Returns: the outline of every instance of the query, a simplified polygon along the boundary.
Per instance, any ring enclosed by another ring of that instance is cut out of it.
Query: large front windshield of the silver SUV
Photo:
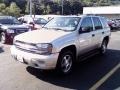
[[[73,31],[77,28],[79,17],[56,17],[49,21],[43,28]]]

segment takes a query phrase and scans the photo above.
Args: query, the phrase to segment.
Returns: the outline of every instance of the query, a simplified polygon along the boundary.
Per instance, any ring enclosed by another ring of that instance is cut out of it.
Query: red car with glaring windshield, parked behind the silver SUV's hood
[[[29,25],[31,30],[37,30],[42,28],[48,21],[41,15],[35,15],[32,17],[30,15],[25,15],[23,17],[18,18],[19,21],[21,21],[24,24]]]

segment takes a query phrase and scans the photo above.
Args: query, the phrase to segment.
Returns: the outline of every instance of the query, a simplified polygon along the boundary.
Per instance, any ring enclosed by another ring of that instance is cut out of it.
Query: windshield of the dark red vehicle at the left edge
[[[16,18],[11,18],[11,17],[9,17],[9,18],[5,18],[5,17],[1,17],[0,18],[0,24],[8,24],[8,25],[13,25],[13,24],[17,24],[17,25],[19,25],[19,24],[22,24],[21,22],[19,22]]]

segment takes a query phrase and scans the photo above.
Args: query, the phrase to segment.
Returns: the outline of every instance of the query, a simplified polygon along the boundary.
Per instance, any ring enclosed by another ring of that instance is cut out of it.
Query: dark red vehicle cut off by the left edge
[[[14,36],[29,30],[27,25],[23,25],[15,17],[0,16],[0,43],[12,43]]]

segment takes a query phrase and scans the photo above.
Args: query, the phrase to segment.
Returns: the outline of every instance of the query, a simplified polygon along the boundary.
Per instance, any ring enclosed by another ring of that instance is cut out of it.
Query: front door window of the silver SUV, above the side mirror
[[[86,17],[83,19],[82,23],[81,23],[81,27],[82,30],[90,30],[92,31],[93,30],[93,24],[92,24],[92,20],[90,17]]]

